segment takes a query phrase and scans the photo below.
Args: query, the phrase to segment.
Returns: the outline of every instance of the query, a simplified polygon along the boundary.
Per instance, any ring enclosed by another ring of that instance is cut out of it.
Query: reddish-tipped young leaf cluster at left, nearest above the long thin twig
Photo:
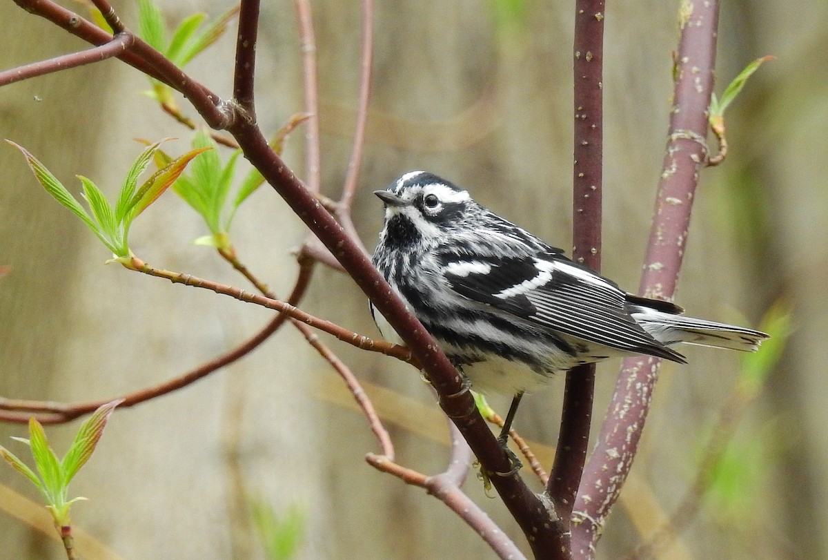
[[[118,201],[114,206],[110,204],[106,196],[103,196],[103,192],[94,182],[84,176],[78,176],[82,186],[82,195],[89,206],[89,212],[84,210],[84,207],[80,205],[75,196],[72,196],[70,191],[31,152],[11,140],[7,140],[7,142],[17,147],[22,152],[23,157],[26,157],[26,162],[29,164],[32,173],[46,189],[46,192],[78,216],[86,224],[86,227],[100,239],[101,243],[112,251],[115,259],[126,259],[132,255],[128,244],[129,228],[132,221],[144,210],[147,210],[147,206],[151,205],[176,181],[195,156],[209,149],[191,150],[181,157],[171,159],[166,166],[153,173],[140,187],[137,186],[138,177],[147,169],[153,155],[161,146],[161,142],[165,140],[160,140],[148,146],[132,163],[132,167],[129,168],[121,185]]]

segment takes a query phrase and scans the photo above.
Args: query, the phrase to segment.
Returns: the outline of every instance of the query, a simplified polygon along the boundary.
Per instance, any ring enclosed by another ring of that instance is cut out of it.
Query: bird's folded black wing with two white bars
[[[629,316],[625,292],[560,253],[440,260],[451,289],[470,300],[577,339],[681,360]]]

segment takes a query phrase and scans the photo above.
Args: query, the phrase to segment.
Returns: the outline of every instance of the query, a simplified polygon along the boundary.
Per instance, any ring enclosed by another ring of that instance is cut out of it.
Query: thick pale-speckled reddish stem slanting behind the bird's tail
[[[639,293],[672,299],[681,270],[691,207],[700,167],[713,89],[718,0],[684,0],[679,12],[681,41],[667,152],[655,205]],[[579,558],[595,548],[609,509],[618,499],[638,450],[658,378],[659,360],[624,360],[598,442],[581,480],[574,515],[573,543]]]

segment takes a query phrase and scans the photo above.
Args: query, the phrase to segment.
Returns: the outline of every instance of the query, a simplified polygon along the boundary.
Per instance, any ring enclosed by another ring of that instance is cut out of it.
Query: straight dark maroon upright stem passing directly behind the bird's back
[[[575,164],[573,169],[572,256],[594,270],[601,265],[601,187],[604,147],[602,80],[604,0],[575,2]],[[561,432],[546,486],[569,524],[590,440],[595,364],[566,374]]]

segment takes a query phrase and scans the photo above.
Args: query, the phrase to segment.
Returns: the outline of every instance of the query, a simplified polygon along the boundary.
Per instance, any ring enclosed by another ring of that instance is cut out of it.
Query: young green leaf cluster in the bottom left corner
[[[23,461],[17,458],[12,451],[0,446],[0,456],[6,460],[16,471],[20,472],[31,483],[41,491],[46,499],[46,509],[49,509],[55,519],[55,525],[65,527],[70,524],[69,510],[77,500],[85,498],[73,498],[69,500],[69,483],[78,474],[80,467],[89,461],[95,447],[103,435],[103,428],[106,427],[109,416],[115,407],[122,403],[123,399],[107,403],[98,408],[86,421],[81,424],[75,440],[66,451],[62,459],[58,459],[55,451],[46,439],[46,432],[43,426],[35,418],[29,421],[29,439],[15,437],[19,442],[26,443],[31,449],[31,456],[35,460],[35,469],[32,470]]]

